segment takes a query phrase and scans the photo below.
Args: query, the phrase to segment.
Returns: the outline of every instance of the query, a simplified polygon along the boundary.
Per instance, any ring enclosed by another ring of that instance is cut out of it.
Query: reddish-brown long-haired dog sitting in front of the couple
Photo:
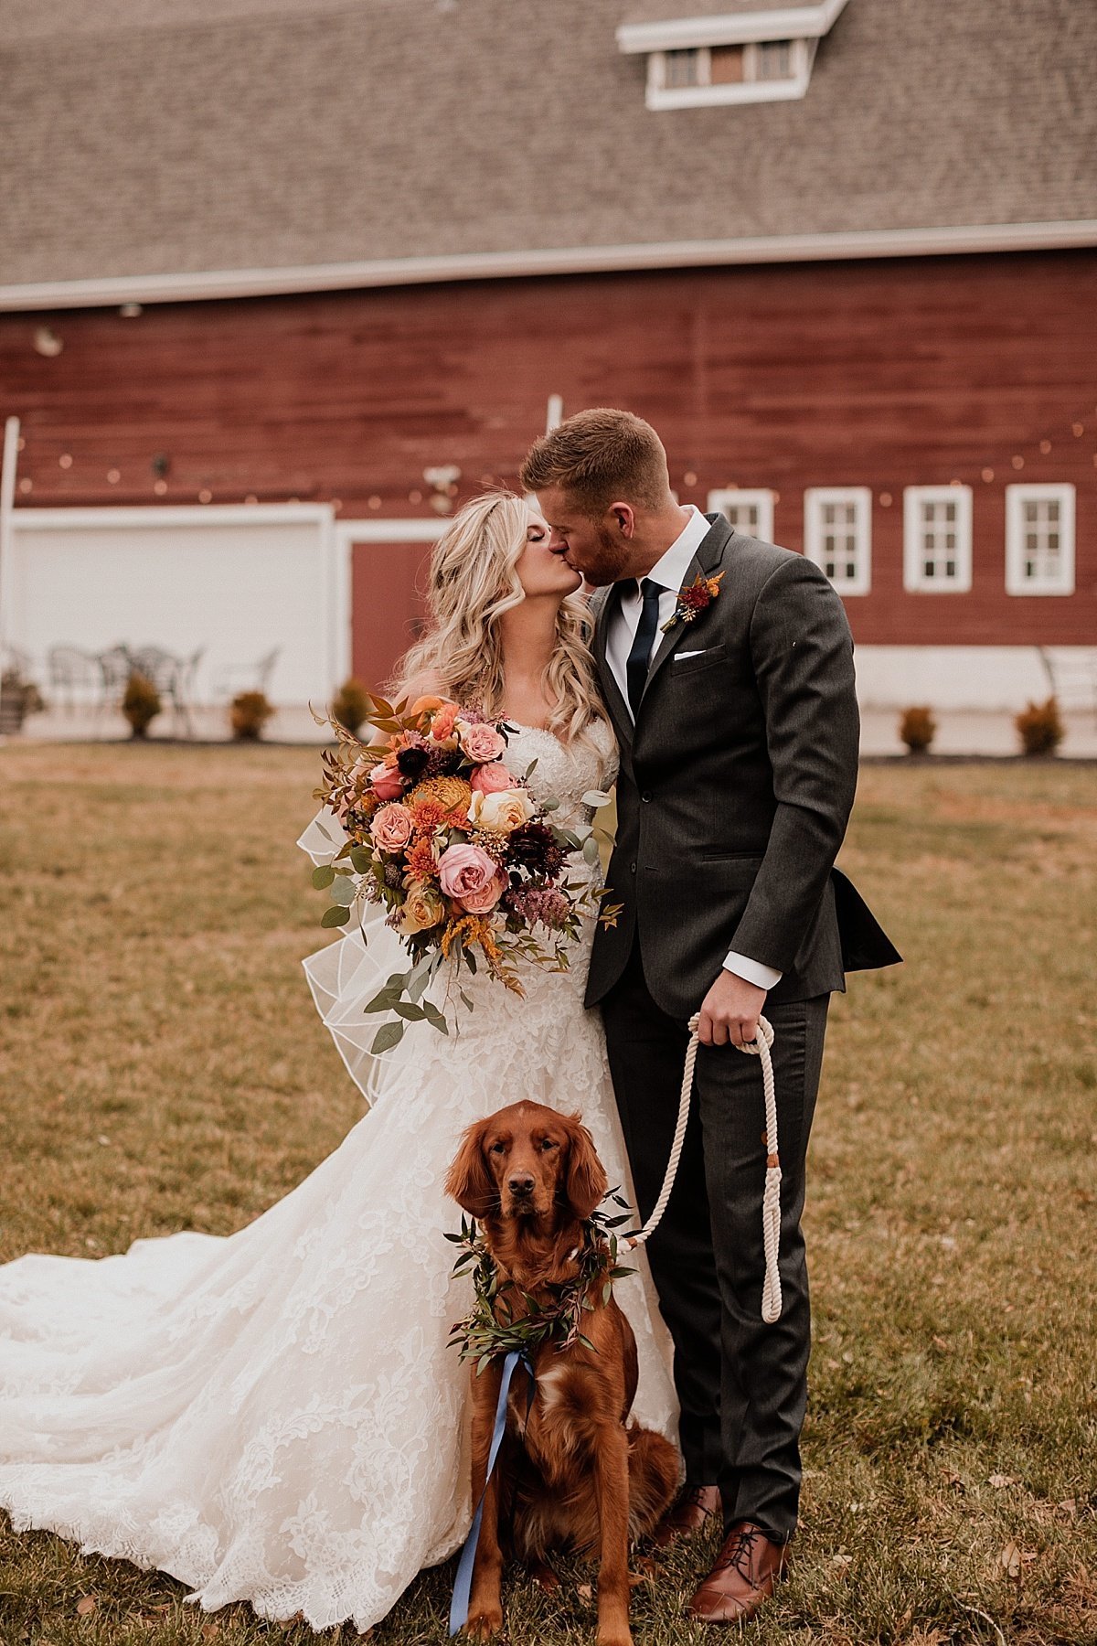
[[[513,1103],[470,1126],[449,1169],[446,1192],[480,1223],[500,1274],[516,1284],[507,1299],[525,1312],[523,1294],[548,1300],[546,1287],[577,1272],[581,1223],[605,1195],[607,1180],[579,1116],[541,1103]],[[625,1282],[628,1284],[628,1282]],[[484,1518],[467,1630],[487,1639],[503,1623],[500,1504],[513,1504],[513,1546],[535,1570],[551,1547],[600,1555],[599,1643],[628,1646],[628,1539],[656,1524],[678,1485],[678,1455],[661,1435],[627,1424],[636,1393],[636,1340],[602,1282],[590,1289],[584,1337],[561,1350],[548,1340],[533,1351],[536,1393],[530,1406],[518,1369],[508,1402],[507,1440],[484,1498]],[[480,1500],[495,1425],[502,1365],[472,1374],[472,1501]],[[528,1416],[526,1416],[528,1414]]]

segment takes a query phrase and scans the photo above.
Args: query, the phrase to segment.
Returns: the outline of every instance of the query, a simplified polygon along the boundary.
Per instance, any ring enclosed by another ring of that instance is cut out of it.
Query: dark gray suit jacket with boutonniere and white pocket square
[[[592,602],[620,744],[607,904],[623,909],[599,927],[589,1006],[625,969],[636,932],[653,999],[681,1019],[732,948],[780,968],[771,1001],[827,994],[845,971],[900,960],[834,869],[860,732],[842,602],[803,555],[709,518],[686,583],[724,571],[720,593],[660,635],[635,728],[605,660],[617,588]]]

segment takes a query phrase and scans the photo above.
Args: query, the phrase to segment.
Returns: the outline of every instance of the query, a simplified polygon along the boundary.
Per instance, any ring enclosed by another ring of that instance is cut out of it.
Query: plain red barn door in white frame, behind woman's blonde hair
[[[355,543],[350,561],[354,673],[383,688],[426,616],[421,591],[431,543]]]

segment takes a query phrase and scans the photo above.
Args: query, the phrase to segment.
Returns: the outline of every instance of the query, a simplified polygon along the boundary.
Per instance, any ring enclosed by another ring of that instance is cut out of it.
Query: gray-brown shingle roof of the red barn
[[[7,0],[0,286],[1097,217],[1094,0],[849,0],[801,102],[658,114],[638,5]]]

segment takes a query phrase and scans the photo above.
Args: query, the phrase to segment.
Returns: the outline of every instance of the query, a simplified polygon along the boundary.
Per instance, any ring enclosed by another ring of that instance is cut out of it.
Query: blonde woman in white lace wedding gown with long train
[[[434,550],[431,621],[400,690],[505,714],[511,767],[536,760],[531,788],[567,823],[612,782],[615,747],[581,579],[548,545],[521,499],[469,504]],[[314,861],[331,826],[301,841]],[[317,1630],[368,1628],[469,1529],[467,1369],[446,1346],[469,1282],[442,1238],[462,1129],[516,1098],[581,1109],[628,1193],[600,1021],[582,1007],[589,932],[567,973],[526,966],[525,997],[480,973],[459,1032],[421,1024],[380,1058],[362,1007],[406,956],[380,918],[367,938],[304,963],[372,1109],[298,1188],[229,1238],[0,1267],[0,1506],[16,1531],[158,1567],[206,1610],[247,1600]],[[618,1300],[640,1350],[636,1416],[673,1435],[643,1267]]]

